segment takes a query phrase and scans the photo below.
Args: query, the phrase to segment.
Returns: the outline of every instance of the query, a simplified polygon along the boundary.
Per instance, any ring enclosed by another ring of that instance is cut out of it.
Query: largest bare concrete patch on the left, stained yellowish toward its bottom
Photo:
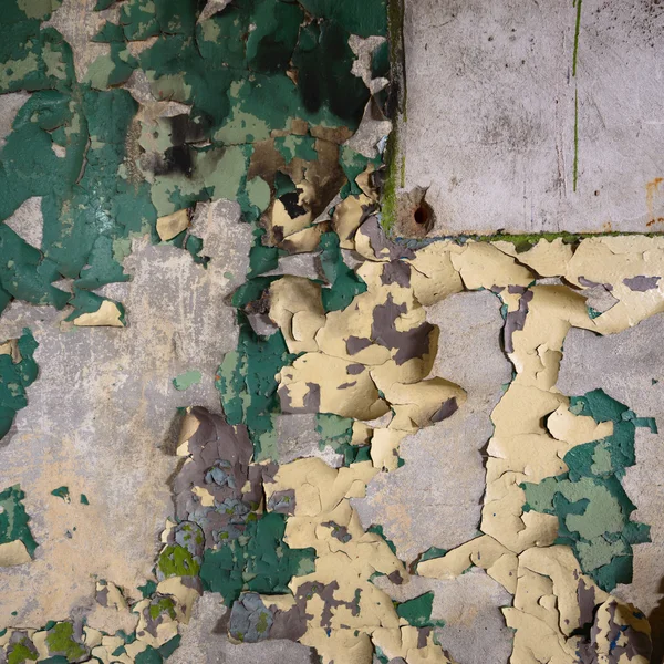
[[[215,373],[237,343],[224,298],[245,279],[250,229],[220,228],[235,241],[207,270],[184,250],[134,241],[124,263],[132,281],[103,289],[124,302],[126,329],[76,329],[61,323],[68,312],[18,301],[3,312],[0,339],[29,326],[40,344],[29,405],[0,448],[3,486],[25,491],[39,547],[31,564],[2,572],[0,625],[62,620],[92,603],[96,579],[136,596],[149,574],[172,513],[176,408],[219,412]],[[173,378],[191,369],[201,382],[175,390]],[[71,504],[51,495],[63,485]]]

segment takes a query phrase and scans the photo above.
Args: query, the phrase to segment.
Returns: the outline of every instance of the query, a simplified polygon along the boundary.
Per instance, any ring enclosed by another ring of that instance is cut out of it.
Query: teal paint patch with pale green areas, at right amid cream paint
[[[557,516],[557,542],[571,547],[583,572],[610,592],[632,581],[632,546],[650,541],[650,526],[630,520],[636,508],[620,480],[636,463],[636,427],[657,429],[653,418],[636,417],[602,390],[571,397],[570,411],[596,423],[612,422],[613,435],[568,452],[568,473],[522,484],[523,510]]]

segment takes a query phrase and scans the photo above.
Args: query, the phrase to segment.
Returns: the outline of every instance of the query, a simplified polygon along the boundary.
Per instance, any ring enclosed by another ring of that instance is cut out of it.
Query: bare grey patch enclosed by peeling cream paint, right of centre
[[[432,375],[468,392],[448,419],[401,445],[405,465],[377,475],[354,500],[362,523],[383,526],[397,556],[412,561],[429,547],[450,549],[477,533],[485,470],[480,450],[491,436],[490,413],[510,380],[500,350],[500,302],[488,291],[458,293],[427,308],[440,328]]]

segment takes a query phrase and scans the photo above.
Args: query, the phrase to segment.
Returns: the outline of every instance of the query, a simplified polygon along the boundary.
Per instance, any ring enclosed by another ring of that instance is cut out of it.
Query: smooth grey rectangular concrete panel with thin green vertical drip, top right
[[[430,185],[430,235],[664,230],[663,4],[583,0],[575,76],[572,2],[405,6],[406,188]]]

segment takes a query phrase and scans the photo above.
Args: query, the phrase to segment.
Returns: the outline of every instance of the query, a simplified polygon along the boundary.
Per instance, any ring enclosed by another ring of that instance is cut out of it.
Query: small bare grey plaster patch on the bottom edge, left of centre
[[[183,640],[168,664],[311,664],[310,649],[292,641],[229,643],[226,611],[221,595],[204,594],[191,621],[181,629]]]

